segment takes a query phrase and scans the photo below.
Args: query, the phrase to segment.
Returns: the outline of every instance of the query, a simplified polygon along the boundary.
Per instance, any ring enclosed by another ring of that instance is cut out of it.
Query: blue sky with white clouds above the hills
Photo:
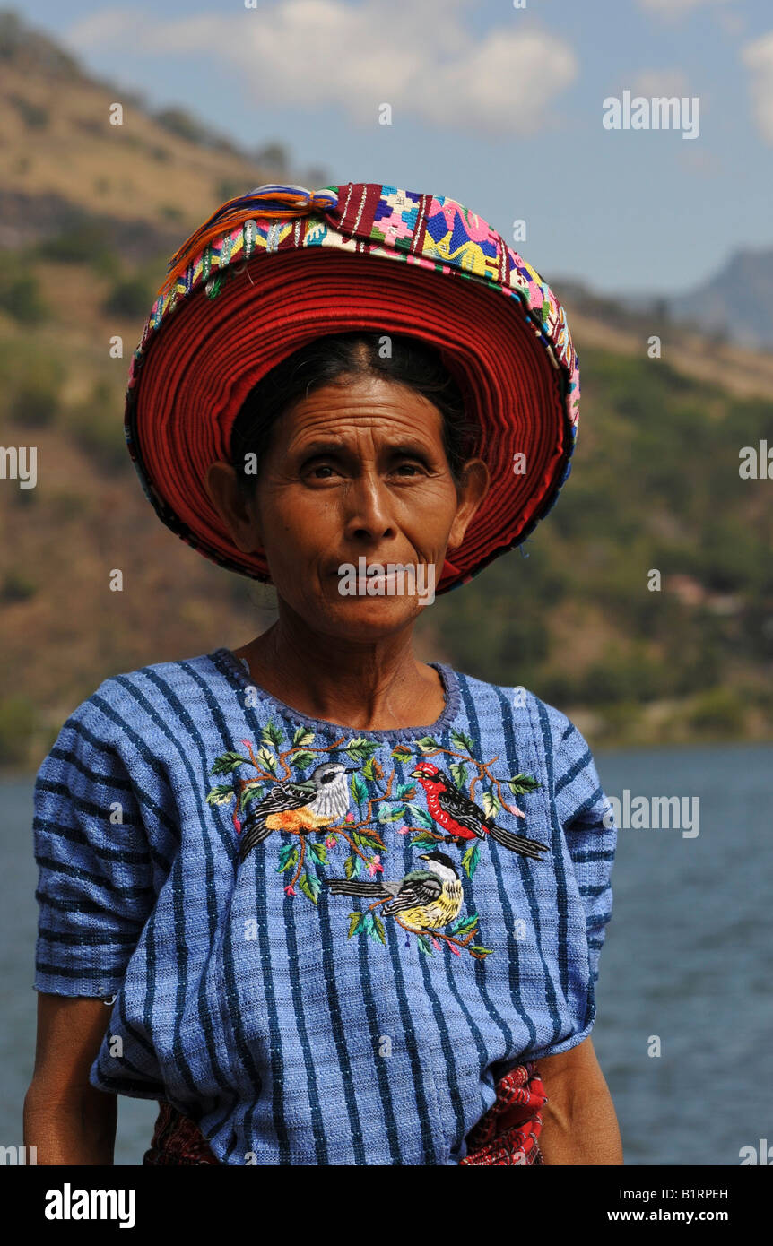
[[[181,105],[249,148],[282,142],[332,183],[453,196],[559,295],[560,277],[681,293],[736,248],[773,245],[769,0],[515,4],[25,0],[24,12],[152,107]],[[697,97],[697,137],[605,128],[603,100],[626,90]]]

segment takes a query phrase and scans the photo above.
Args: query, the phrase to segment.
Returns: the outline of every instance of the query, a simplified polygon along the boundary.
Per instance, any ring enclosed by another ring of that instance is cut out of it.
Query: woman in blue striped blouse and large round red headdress
[[[40,769],[39,1163],[111,1163],[116,1094],[160,1101],[147,1164],[622,1163],[587,744],[413,653],[554,505],[577,402],[560,304],[451,199],[259,187],[172,258],[128,449],[278,619],[105,680]]]

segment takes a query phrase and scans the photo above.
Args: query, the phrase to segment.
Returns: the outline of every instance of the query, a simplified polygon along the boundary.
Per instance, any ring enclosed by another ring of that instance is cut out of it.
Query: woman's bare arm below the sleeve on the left
[[[112,1164],[117,1098],[89,1070],[111,1009],[101,999],[37,996],[35,1072],[24,1100],[24,1141],[39,1164]]]

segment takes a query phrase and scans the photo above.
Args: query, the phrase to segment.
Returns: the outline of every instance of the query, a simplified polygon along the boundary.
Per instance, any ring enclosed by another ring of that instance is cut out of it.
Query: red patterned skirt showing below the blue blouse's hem
[[[517,1064],[496,1085],[496,1100],[468,1135],[460,1164],[544,1164],[541,1109],[547,1103],[532,1063]],[[160,1113],[143,1164],[219,1164],[198,1125],[170,1103]]]

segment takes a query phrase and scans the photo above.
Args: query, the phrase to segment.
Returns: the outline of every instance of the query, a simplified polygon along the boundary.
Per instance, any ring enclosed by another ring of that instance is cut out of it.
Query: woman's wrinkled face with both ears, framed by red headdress
[[[284,603],[314,630],[349,640],[385,635],[419,613],[421,586],[439,583],[446,548],[461,541],[487,487],[475,459],[458,491],[438,407],[380,378],[325,385],[284,412],[248,503],[233,467],[209,468],[211,496],[239,549],[262,547]],[[416,591],[405,577],[393,596],[347,594],[342,568],[354,564],[357,578],[360,557],[411,566],[424,579]]]

